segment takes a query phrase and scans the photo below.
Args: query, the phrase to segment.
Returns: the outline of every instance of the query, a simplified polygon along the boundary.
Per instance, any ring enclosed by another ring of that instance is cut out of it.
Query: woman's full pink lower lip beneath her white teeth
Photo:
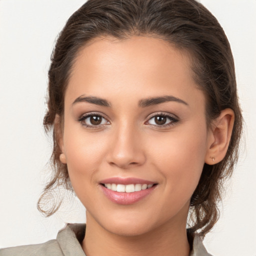
[[[135,203],[135,202],[143,199],[147,195],[149,195],[154,190],[156,185],[153,185],[152,187],[146,188],[144,190],[130,192],[130,193],[117,192],[117,191],[108,189],[103,185],[100,185],[100,186],[101,186],[103,193],[109,200],[111,200],[112,202],[115,202],[117,204],[127,205],[127,204]]]

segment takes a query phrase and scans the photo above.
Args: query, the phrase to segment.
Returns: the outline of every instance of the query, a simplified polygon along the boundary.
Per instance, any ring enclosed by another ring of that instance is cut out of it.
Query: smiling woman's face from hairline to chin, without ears
[[[60,145],[87,222],[125,235],[185,225],[208,140],[184,52],[147,36],[96,38],[79,52]]]

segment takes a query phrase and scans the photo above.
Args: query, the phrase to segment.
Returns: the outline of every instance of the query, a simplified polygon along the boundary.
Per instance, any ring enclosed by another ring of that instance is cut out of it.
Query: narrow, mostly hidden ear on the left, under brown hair
[[[59,152],[59,160],[62,163],[66,163],[66,157],[63,152],[64,144],[63,144],[63,128],[61,123],[61,117],[56,114],[54,119],[54,135],[57,143],[57,148]]]

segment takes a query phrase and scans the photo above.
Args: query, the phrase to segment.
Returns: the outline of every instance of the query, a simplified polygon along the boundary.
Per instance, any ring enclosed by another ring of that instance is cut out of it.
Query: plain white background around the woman
[[[36,201],[49,173],[51,139],[42,127],[54,40],[83,0],[0,0],[0,247],[55,238],[65,222],[84,222],[68,199],[44,218]],[[256,255],[256,0],[201,0],[233,51],[246,127],[244,149],[204,244],[215,256]]]

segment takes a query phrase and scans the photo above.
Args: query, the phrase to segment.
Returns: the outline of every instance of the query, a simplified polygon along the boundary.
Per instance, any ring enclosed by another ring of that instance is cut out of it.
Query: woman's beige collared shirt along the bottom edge
[[[67,224],[56,239],[45,243],[0,249],[0,256],[85,256],[80,245],[85,235],[85,224]],[[189,256],[211,256],[198,236],[194,237]]]

